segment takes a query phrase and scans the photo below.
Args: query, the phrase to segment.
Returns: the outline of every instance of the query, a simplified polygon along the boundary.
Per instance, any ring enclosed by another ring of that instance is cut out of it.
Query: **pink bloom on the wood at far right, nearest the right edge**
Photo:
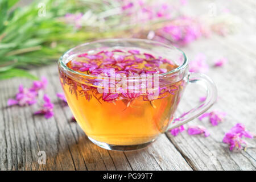
[[[245,130],[245,125],[242,123],[237,123],[236,126],[232,127],[232,129],[225,134],[222,142],[229,144],[230,151],[234,149],[241,150],[243,148],[242,144],[245,144],[246,150],[247,144],[244,140],[242,140],[242,137],[253,138],[254,136],[254,134]]]

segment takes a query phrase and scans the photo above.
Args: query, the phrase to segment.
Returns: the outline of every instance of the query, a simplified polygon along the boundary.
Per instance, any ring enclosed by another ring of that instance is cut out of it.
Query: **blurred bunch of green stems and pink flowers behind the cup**
[[[237,18],[190,16],[187,1],[0,1],[0,79],[35,76],[26,70],[56,61],[67,49],[102,38],[152,39],[177,47],[233,32]],[[185,12],[185,13],[184,13]]]

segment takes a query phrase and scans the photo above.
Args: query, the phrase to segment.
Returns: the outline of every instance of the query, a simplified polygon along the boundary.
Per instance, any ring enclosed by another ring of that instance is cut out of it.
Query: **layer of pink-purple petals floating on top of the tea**
[[[183,86],[182,82],[159,85],[158,79],[164,78],[159,78],[158,75],[176,68],[176,65],[171,60],[141,52],[138,49],[104,50],[93,54],[81,53],[77,57],[79,59],[69,61],[67,66],[75,71],[85,72],[97,78],[90,79],[88,83],[82,84],[82,90],[77,90],[76,82],[66,77],[63,77],[63,81],[64,84],[68,83],[70,85],[69,89],[72,93],[85,96],[88,101],[93,97],[100,103],[101,100],[113,103],[123,100],[128,107],[138,97],[142,97],[144,101],[160,99],[167,97],[168,94],[174,95],[179,92],[180,86]],[[106,79],[106,77],[110,79]],[[133,80],[129,77],[139,77],[139,79]],[[129,82],[126,82],[123,78],[125,80],[129,79]],[[151,82],[151,85],[148,85],[150,82],[147,82],[147,80]],[[98,87],[95,88],[89,86],[89,84]],[[101,88],[104,89],[99,91]],[[137,91],[135,92],[135,90]],[[154,107],[153,103],[150,104]]]

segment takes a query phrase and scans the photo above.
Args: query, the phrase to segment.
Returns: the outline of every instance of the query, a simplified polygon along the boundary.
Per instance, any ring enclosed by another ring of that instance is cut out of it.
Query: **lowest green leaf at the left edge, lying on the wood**
[[[23,69],[9,69],[7,71],[0,72],[0,80],[7,79],[7,78],[13,78],[13,77],[27,77],[32,80],[38,80],[38,77],[31,75],[31,73],[28,73],[27,71],[24,71]]]

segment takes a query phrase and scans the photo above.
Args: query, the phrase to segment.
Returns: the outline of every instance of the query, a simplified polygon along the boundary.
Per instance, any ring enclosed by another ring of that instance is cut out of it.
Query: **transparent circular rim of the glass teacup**
[[[85,77],[91,77],[91,78],[97,78],[97,76],[93,76],[93,75],[88,75],[88,74],[85,74],[85,73],[80,73],[80,72],[77,72],[69,67],[67,67],[67,65],[64,63],[64,60],[63,58],[68,55],[70,52],[74,51],[75,49],[79,48],[79,47],[83,47],[83,46],[89,46],[90,44],[94,44],[94,43],[102,43],[102,42],[119,42],[119,41],[126,41],[126,42],[144,42],[144,43],[148,43],[148,44],[159,44],[159,46],[163,46],[163,47],[166,47],[166,48],[170,48],[170,49],[176,49],[176,51],[179,51],[182,55],[183,55],[183,63],[175,68],[175,69],[172,69],[171,71],[169,72],[166,72],[166,73],[160,73],[159,74],[159,77],[161,76],[167,76],[167,75],[170,75],[172,73],[175,73],[175,72],[179,72],[180,70],[184,69],[187,67],[188,65],[188,60],[187,60],[187,56],[185,55],[185,53],[183,51],[181,51],[181,49],[175,47],[175,46],[172,46],[172,45],[167,45],[167,44],[163,44],[163,43],[160,43],[160,42],[156,42],[154,40],[147,40],[147,39],[134,39],[134,38],[127,38],[127,39],[100,39],[100,40],[96,40],[96,41],[92,41],[92,42],[87,42],[87,43],[83,43],[83,44],[80,44],[79,46],[76,46],[76,47],[73,47],[71,49],[68,49],[68,51],[64,52],[64,54],[60,57],[59,61],[58,61],[58,64],[60,65],[61,68],[64,69],[64,71],[68,71],[68,72],[71,72],[71,73],[74,73],[76,75],[80,75],[80,76],[85,76]],[[139,78],[139,77],[137,77]]]

